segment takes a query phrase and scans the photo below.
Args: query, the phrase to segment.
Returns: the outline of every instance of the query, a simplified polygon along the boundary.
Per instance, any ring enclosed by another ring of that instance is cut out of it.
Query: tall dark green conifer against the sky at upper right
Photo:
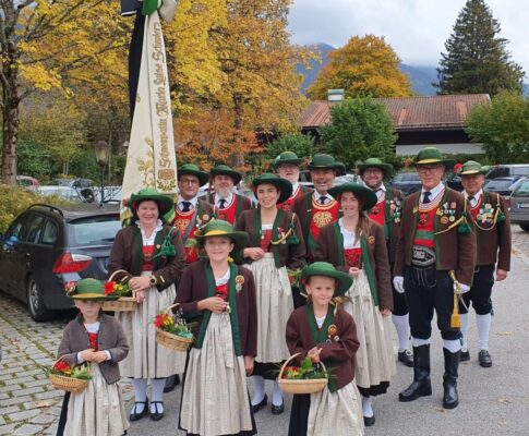
[[[438,94],[521,94],[525,73],[510,60],[508,40],[483,0],[468,0],[445,43],[437,68]]]

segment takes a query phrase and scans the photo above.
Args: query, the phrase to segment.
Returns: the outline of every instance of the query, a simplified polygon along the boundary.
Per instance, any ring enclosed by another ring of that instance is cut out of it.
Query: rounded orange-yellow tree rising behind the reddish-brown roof
[[[409,78],[399,70],[400,60],[384,37],[353,36],[328,58],[306,90],[311,99],[326,99],[328,89],[345,89],[348,98],[411,95]]]

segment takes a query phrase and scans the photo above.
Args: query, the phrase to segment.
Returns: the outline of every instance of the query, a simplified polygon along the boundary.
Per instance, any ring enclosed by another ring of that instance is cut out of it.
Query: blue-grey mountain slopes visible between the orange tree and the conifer
[[[333,46],[325,43],[314,44],[313,47],[320,51],[321,62],[311,61],[311,69],[305,69],[303,65],[296,68],[296,71],[304,76],[301,85],[301,92],[303,94],[305,94],[306,88],[316,80],[320,70],[327,64],[328,53],[335,50]],[[418,95],[431,96],[436,94],[436,88],[432,85],[433,82],[437,82],[437,69],[435,66],[412,66],[401,63],[400,71],[408,74],[411,89]],[[529,84],[524,84],[524,95],[529,96]]]

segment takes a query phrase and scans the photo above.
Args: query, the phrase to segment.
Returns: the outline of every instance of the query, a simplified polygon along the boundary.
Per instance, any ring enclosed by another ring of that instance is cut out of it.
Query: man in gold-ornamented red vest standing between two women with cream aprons
[[[320,229],[339,218],[339,204],[328,194],[333,187],[339,164],[333,156],[315,155],[309,164],[314,191],[306,193],[293,203],[293,211],[298,215],[306,245],[306,258],[313,262]]]

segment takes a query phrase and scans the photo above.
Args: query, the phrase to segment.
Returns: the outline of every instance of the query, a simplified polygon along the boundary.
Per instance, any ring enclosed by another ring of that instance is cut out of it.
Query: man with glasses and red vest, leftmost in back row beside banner
[[[194,241],[195,231],[213,217],[213,206],[197,197],[199,189],[208,180],[207,172],[201,171],[194,164],[185,164],[178,169],[180,196],[175,205],[173,226],[182,234],[188,265],[199,259],[199,249]]]

